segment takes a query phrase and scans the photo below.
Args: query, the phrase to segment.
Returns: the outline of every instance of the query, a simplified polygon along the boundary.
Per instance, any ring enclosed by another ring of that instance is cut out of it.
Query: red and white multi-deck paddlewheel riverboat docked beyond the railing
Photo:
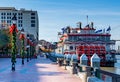
[[[110,26],[106,30],[96,30],[93,22],[85,27],[79,22],[77,28],[70,26],[62,28],[62,33],[58,33],[60,39],[58,51],[62,54],[76,54],[78,60],[82,54],[86,54],[88,65],[91,56],[96,53],[101,58],[101,66],[107,66],[108,61],[114,63],[115,53],[115,41],[110,39],[110,31]]]

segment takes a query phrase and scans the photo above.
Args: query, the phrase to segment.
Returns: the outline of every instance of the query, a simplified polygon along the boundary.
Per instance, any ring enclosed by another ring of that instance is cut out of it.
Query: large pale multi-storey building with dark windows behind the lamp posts
[[[4,25],[10,26],[14,14],[17,16],[18,30],[24,28],[25,32],[33,34],[35,39],[38,40],[39,21],[37,11],[25,10],[24,8],[17,10],[14,7],[0,7],[0,27],[4,28]]]

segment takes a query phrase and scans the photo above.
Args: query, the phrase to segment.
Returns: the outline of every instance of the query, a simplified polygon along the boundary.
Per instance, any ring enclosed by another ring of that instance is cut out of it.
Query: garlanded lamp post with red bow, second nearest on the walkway
[[[22,48],[21,48],[21,57],[22,57],[22,65],[24,65],[24,55],[25,55],[25,33],[24,33],[24,29],[22,28],[21,29],[21,34],[20,34],[20,37],[19,39],[21,40],[21,43],[22,43]]]

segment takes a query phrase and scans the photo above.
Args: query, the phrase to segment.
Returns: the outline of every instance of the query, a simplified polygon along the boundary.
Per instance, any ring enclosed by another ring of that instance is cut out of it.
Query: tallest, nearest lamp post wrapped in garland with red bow
[[[10,34],[12,35],[12,55],[11,55],[11,62],[12,62],[12,71],[15,71],[15,63],[16,63],[16,35],[17,35],[17,26],[16,26],[16,14],[14,14],[13,18],[12,18],[12,26],[10,27]]]

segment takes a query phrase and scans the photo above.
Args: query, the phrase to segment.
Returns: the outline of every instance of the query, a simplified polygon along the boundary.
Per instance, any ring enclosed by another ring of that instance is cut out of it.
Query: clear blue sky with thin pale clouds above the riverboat
[[[120,0],[0,0],[1,7],[25,8],[38,11],[39,39],[58,41],[58,32],[66,26],[86,26],[107,29],[111,26],[111,39],[120,40]],[[117,42],[120,45],[120,42]]]

